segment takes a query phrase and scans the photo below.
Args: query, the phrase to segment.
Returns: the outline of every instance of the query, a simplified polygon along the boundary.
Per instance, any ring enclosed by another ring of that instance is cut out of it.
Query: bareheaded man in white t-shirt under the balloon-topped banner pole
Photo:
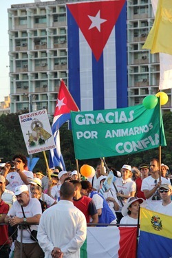
[[[147,201],[147,208],[153,210],[157,204],[161,201],[160,193],[158,191],[161,184],[169,184],[169,181],[166,178],[161,177],[159,174],[159,160],[153,158],[150,162],[150,171],[151,175],[142,180],[141,191],[143,191],[144,196]]]

